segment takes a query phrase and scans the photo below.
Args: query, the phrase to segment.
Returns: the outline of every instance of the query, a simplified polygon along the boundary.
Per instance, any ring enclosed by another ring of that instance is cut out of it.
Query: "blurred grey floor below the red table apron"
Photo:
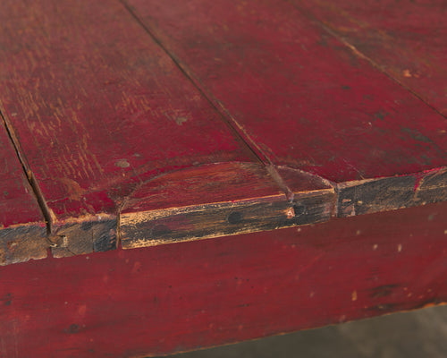
[[[447,358],[447,306],[226,345],[173,358]]]

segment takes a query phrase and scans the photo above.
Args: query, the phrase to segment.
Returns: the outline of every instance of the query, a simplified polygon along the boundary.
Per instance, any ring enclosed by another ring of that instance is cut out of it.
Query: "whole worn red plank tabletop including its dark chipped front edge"
[[[0,265],[206,238],[217,254],[227,235],[446,201],[446,13],[2,1]]]

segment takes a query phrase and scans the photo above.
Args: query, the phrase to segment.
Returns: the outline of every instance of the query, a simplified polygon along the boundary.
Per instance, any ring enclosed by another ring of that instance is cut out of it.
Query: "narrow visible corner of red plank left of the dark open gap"
[[[0,114],[0,266],[46,258],[46,223]]]

